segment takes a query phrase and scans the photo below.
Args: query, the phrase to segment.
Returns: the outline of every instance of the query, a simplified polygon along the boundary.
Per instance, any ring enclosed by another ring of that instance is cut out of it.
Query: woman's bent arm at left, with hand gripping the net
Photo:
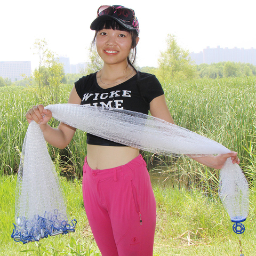
[[[75,86],[70,92],[68,103],[80,104],[79,98]],[[60,123],[57,129],[52,128],[47,124],[52,117],[52,112],[49,109],[44,109],[43,105],[34,106],[26,114],[26,118],[30,123],[34,120],[41,127],[44,134],[44,139],[52,146],[57,148],[65,148],[73,138],[76,129],[67,124]]]

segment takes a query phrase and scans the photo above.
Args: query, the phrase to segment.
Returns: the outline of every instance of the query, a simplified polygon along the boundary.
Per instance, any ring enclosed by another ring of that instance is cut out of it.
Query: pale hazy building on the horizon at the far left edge
[[[0,76],[9,78],[12,82],[22,80],[22,74],[31,76],[30,61],[0,61]]]

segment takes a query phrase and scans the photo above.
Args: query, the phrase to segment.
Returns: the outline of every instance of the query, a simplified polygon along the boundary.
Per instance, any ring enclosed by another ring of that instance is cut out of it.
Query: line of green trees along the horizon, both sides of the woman
[[[256,67],[250,63],[219,62],[211,65],[203,63],[196,65],[189,57],[189,51],[182,49],[174,35],[169,34],[166,39],[166,50],[158,58],[158,67],[137,67],[138,70],[155,74],[161,83],[173,80],[191,78],[223,78],[256,76]],[[94,73],[102,67],[102,60],[95,50],[89,52],[89,65],[81,74],[65,74],[62,63],[57,61],[54,54],[47,48],[45,40],[37,39],[34,44],[35,53],[39,56],[39,67],[31,77],[11,83],[8,78],[0,77],[0,86],[6,85],[37,85],[39,91],[48,88],[49,92],[58,98],[59,84],[73,84],[83,75]]]

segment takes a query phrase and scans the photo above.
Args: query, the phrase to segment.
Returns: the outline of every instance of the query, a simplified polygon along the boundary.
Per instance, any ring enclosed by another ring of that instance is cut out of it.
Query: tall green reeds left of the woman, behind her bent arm
[[[59,102],[67,103],[71,85],[62,85],[59,92]],[[51,95],[47,90],[43,91],[43,97],[39,97],[36,87],[1,87],[0,99],[0,175],[15,174],[18,171],[20,153],[23,140],[26,135],[28,122],[26,112],[34,105],[43,104],[47,106],[52,102]],[[53,118],[50,125],[58,126],[58,122]],[[86,135],[82,131],[77,131],[70,145],[60,150],[49,145],[49,152],[54,162],[58,162],[68,170],[76,170],[79,173],[79,166],[84,161],[86,155]],[[75,156],[75,157],[74,157]],[[80,170],[81,171],[81,170]]]

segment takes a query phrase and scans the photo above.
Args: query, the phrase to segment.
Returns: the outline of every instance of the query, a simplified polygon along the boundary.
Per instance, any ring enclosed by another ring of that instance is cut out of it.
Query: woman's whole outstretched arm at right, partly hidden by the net
[[[174,124],[170,111],[167,107],[164,95],[156,97],[150,102],[149,110],[152,116],[164,119],[166,122]],[[227,154],[219,154],[217,156],[191,157],[195,161],[214,169],[221,169],[227,158],[231,157],[233,164],[240,163],[236,152],[231,151]]]

